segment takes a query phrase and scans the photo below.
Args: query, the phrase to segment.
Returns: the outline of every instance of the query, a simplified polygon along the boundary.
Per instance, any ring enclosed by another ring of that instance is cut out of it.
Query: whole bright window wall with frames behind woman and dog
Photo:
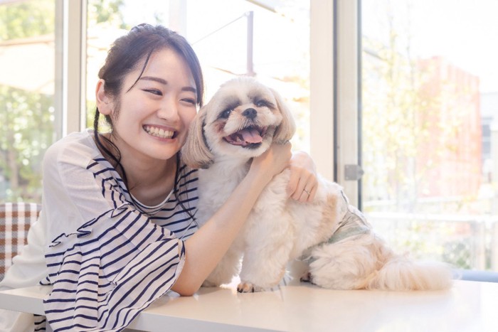
[[[194,45],[206,100],[243,73],[279,90],[295,148],[393,245],[498,269],[497,11],[494,0],[0,0],[0,201],[41,201],[44,151],[91,127],[110,43],[161,23]],[[359,181],[346,172],[356,164]]]

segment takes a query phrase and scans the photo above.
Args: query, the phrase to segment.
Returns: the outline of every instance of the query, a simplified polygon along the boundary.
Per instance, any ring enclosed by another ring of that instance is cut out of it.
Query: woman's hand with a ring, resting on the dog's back
[[[311,202],[317,193],[317,168],[309,154],[297,151],[290,159],[290,180],[287,193],[300,202]]]

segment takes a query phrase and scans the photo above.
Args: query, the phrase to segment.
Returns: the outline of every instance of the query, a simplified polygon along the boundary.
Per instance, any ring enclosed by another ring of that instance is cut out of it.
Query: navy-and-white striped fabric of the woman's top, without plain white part
[[[196,170],[181,166],[173,195],[153,208],[130,198],[105,159],[88,170],[110,208],[58,236],[46,254],[53,291],[43,302],[53,331],[122,331],[171,289],[184,264],[182,238],[196,230]]]

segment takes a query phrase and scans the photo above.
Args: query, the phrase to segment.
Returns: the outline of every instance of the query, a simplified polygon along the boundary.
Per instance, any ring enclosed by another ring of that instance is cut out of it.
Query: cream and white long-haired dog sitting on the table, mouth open
[[[191,123],[181,156],[198,172],[202,227],[244,178],[252,158],[272,143],[289,141],[295,122],[282,97],[253,77],[236,77],[219,88]],[[447,289],[452,269],[396,255],[364,215],[349,204],[339,184],[318,175],[311,203],[287,198],[287,169],[260,194],[248,220],[203,286],[228,284],[239,275],[239,292],[276,286],[287,263],[307,263],[304,282],[328,289],[393,291]]]

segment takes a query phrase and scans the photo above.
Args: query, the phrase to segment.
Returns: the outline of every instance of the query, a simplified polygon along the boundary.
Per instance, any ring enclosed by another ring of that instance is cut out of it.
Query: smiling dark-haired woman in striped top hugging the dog
[[[99,77],[94,129],[46,152],[41,216],[0,284],[53,284],[44,309],[54,331],[120,331],[166,291],[194,294],[291,157],[286,144],[255,159],[233,196],[197,229],[196,170],[179,154],[203,100],[194,50],[167,28],[143,24],[115,41]],[[99,132],[100,115],[110,133]],[[310,200],[314,165],[306,154],[293,159],[290,193]],[[33,321],[2,316],[10,331]]]

